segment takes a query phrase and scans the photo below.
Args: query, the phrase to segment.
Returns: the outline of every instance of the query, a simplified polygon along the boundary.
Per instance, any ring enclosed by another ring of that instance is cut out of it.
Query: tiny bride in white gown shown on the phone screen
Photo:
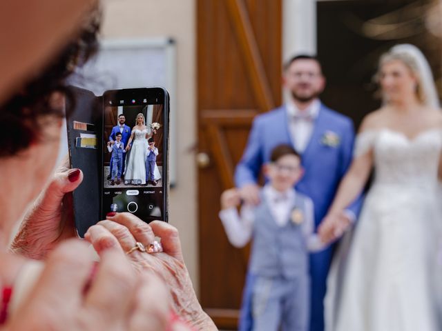
[[[131,137],[126,146],[126,152],[131,154],[126,158],[126,170],[124,172],[124,183],[146,184],[146,157],[148,151],[147,139],[151,138],[155,130],[148,130],[144,124],[144,115],[137,114],[136,125],[132,129]],[[133,141],[132,147],[131,143]],[[160,170],[155,165],[155,180],[161,178]]]

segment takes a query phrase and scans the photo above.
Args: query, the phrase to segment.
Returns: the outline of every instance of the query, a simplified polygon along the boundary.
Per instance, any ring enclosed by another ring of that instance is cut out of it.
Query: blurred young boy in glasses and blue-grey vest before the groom
[[[313,233],[311,199],[294,190],[302,172],[299,154],[280,145],[265,165],[269,182],[260,192],[260,204],[244,205],[239,215],[239,191],[233,188],[221,196],[220,219],[231,244],[241,248],[253,238],[253,330],[309,327],[309,251],[321,250],[323,244]]]

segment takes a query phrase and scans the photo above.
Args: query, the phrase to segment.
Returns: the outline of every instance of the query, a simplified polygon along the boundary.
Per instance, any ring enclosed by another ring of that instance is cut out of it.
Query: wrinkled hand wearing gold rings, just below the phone
[[[175,312],[189,325],[197,330],[218,330],[198,302],[184,265],[177,229],[172,225],[163,221],[147,224],[133,214],[117,213],[89,228],[85,239],[97,252],[108,246],[118,246],[128,252],[137,241],[148,246],[155,236],[161,238],[164,252],[148,254],[135,250],[128,254],[133,267],[141,273],[153,272],[166,282]]]

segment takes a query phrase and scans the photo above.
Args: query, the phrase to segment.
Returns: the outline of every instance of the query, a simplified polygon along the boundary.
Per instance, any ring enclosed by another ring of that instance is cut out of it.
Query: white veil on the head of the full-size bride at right
[[[428,64],[428,61],[425,59],[421,50],[410,43],[401,43],[394,46],[390,50],[390,54],[405,54],[407,57],[413,59],[416,64],[416,70],[419,74],[425,106],[439,108],[439,97],[436,92],[430,64]]]

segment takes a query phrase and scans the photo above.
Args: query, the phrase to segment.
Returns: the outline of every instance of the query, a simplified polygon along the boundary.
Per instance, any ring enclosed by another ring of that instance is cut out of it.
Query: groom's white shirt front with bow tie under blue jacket
[[[318,117],[320,101],[315,99],[305,110],[299,110],[293,102],[287,103],[289,132],[294,146],[300,153],[305,151],[314,129],[314,121]]]

